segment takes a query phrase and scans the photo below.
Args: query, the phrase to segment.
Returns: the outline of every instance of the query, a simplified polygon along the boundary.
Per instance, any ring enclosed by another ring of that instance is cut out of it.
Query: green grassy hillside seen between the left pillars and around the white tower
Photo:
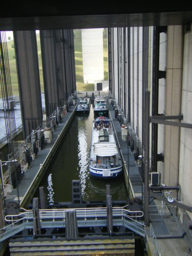
[[[39,33],[37,35],[37,51],[38,51],[38,61],[39,61],[39,74],[40,74],[40,87],[41,91],[44,91],[44,81],[42,77],[42,61],[41,61],[41,51],[40,51],[40,37]],[[18,80],[16,71],[16,61],[15,61],[15,50],[14,41],[9,40],[7,42],[8,55],[9,55],[9,66],[12,84],[13,95],[18,95]],[[93,83],[83,83],[83,68],[82,68],[82,44],[81,44],[81,30],[74,30],[74,48],[75,48],[75,71],[76,71],[76,87],[77,91],[91,91],[94,90]],[[108,80],[108,41],[106,37],[106,29],[103,32],[103,62],[104,62],[104,80]],[[2,91],[0,92],[0,97],[2,98]]]

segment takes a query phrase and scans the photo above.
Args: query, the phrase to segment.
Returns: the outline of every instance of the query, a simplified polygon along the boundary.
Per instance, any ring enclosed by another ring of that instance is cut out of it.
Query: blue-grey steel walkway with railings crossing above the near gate
[[[0,242],[9,239],[24,229],[33,229],[33,210],[26,210],[18,215],[7,215],[9,225],[0,230]],[[107,208],[76,208],[39,210],[40,228],[66,228],[67,211],[75,211],[78,227],[106,227]],[[113,207],[113,226],[124,226],[142,237],[145,237],[144,224],[137,221],[143,216],[142,211],[130,211],[124,207]]]

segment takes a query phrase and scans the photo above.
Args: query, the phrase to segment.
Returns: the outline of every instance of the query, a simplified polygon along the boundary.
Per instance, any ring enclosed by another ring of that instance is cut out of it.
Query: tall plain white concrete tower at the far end
[[[83,81],[103,80],[103,29],[82,29],[81,36]]]

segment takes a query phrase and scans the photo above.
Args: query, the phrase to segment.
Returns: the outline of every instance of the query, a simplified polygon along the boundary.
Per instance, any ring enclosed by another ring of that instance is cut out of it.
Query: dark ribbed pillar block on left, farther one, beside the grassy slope
[[[41,30],[46,113],[64,106],[76,90],[73,30]]]

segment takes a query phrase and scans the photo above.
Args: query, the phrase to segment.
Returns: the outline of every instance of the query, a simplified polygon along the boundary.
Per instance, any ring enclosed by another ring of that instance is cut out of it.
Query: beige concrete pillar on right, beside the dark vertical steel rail
[[[165,92],[165,115],[168,116],[181,114],[182,49],[182,26],[168,26]],[[165,125],[164,175],[162,182],[167,186],[178,185],[179,137],[179,127]]]

